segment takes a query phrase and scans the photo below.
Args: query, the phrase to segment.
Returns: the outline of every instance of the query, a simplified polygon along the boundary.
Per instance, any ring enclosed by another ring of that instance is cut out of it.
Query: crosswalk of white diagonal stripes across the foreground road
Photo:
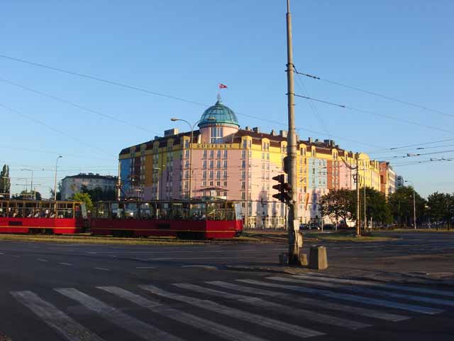
[[[125,333],[128,340],[301,340],[431,317],[454,306],[454,291],[448,289],[320,274],[53,288],[11,296],[53,330],[55,340],[70,341],[124,340]],[[83,318],[74,313],[81,309]],[[87,315],[109,328],[93,328]],[[122,330],[118,335],[116,328]]]

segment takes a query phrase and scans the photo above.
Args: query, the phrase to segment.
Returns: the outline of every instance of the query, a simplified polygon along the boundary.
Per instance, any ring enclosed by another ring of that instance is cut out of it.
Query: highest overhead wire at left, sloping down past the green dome
[[[144,93],[147,93],[147,94],[154,94],[154,95],[160,96],[160,97],[166,97],[166,98],[169,98],[169,99],[175,99],[175,100],[178,100],[178,101],[181,101],[181,102],[186,102],[186,103],[189,103],[189,104],[199,105],[201,107],[209,107],[209,104],[205,104],[205,103],[201,103],[201,102],[195,102],[195,101],[192,101],[192,100],[189,100],[189,99],[184,99],[182,97],[172,96],[172,95],[169,95],[169,94],[162,94],[160,92],[155,92],[155,91],[143,89],[141,87],[136,87],[136,86],[133,86],[133,85],[127,85],[127,84],[121,83],[121,82],[116,82],[116,81],[112,81],[112,80],[106,80],[106,79],[101,78],[101,77],[91,76],[91,75],[87,75],[87,74],[80,73],[80,72],[74,72],[74,71],[70,71],[70,70],[65,70],[65,69],[62,69],[60,67],[52,67],[50,65],[44,65],[44,64],[40,64],[40,63],[35,63],[35,62],[31,62],[29,60],[23,60],[23,59],[20,59],[20,58],[13,58],[13,57],[10,57],[8,55],[2,55],[2,54],[0,54],[0,58],[13,60],[13,61],[16,61],[18,63],[25,63],[25,64],[28,64],[28,65],[33,65],[35,67],[43,67],[43,68],[48,69],[48,70],[53,70],[53,71],[57,71],[57,72],[66,73],[67,75],[74,75],[74,76],[83,77],[83,78],[86,78],[86,79],[89,79],[89,80],[96,80],[98,82],[103,82],[105,84],[116,85],[118,87],[123,87],[123,88],[130,89],[130,90],[136,90],[136,91],[144,92]],[[238,116],[249,117],[251,119],[257,119],[259,121],[267,121],[267,122],[270,122],[270,123],[273,123],[273,124],[278,124],[279,126],[285,126],[284,124],[282,124],[282,121],[263,119],[262,117],[255,117],[253,115],[241,114],[241,113],[238,113],[238,112],[236,112],[236,114],[238,114]],[[306,128],[304,128],[304,129],[303,128],[297,128],[297,130],[309,131],[310,133],[313,133],[313,134],[321,134],[321,135],[324,134],[324,133],[321,133],[320,131],[314,131],[314,130],[310,130],[310,129],[306,129]],[[331,136],[333,136],[333,135],[331,135]],[[375,146],[373,144],[367,144],[365,142],[355,141],[353,139],[348,139],[348,138],[344,138],[344,137],[341,137],[341,136],[333,136],[333,137],[336,138],[336,139],[341,139],[343,141],[354,142],[355,144],[362,144],[362,145],[370,146],[370,147],[373,147],[373,148],[380,148],[380,146]]]

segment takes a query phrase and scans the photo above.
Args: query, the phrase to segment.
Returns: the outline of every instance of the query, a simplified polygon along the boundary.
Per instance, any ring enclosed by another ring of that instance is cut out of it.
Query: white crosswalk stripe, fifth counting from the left
[[[266,309],[270,309],[273,311],[277,311],[284,315],[292,315],[292,316],[296,315],[296,316],[299,316],[306,320],[312,320],[312,321],[316,321],[319,323],[324,323],[326,325],[336,325],[338,327],[348,328],[351,330],[370,327],[370,325],[366,325],[365,323],[360,323],[360,322],[357,322],[354,320],[345,320],[343,318],[336,318],[331,315],[316,313],[311,310],[299,309],[299,308],[294,308],[294,307],[290,308],[289,306],[286,306],[286,305],[273,303],[273,302],[267,302],[265,300],[262,300],[262,298],[256,298],[253,296],[244,296],[244,295],[238,295],[236,293],[228,293],[226,291],[219,291],[219,290],[204,288],[203,286],[196,286],[194,284],[189,284],[189,283],[176,283],[176,284],[174,284],[174,286],[177,286],[178,288],[185,288],[188,290],[196,291],[197,293],[202,293],[204,295],[211,295],[211,296],[222,297],[222,298],[230,298],[231,300],[239,301],[239,302],[246,303],[249,305],[255,305],[260,308],[266,308]]]

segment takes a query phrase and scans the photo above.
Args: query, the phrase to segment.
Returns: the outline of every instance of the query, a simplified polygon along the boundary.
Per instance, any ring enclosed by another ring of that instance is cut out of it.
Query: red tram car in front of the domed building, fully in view
[[[90,228],[115,237],[232,238],[243,231],[239,209],[228,200],[96,202]]]

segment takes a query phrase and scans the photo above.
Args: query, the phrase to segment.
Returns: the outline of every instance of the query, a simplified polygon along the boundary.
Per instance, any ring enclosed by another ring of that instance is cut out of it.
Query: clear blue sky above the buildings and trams
[[[423,196],[454,192],[454,161],[429,161],[454,158],[454,2],[292,0],[291,10],[294,65],[323,78],[296,77],[295,92],[353,108],[298,97],[300,138],[390,161]],[[219,82],[240,126],[286,129],[285,12],[285,0],[2,1],[0,166],[12,192],[30,186],[29,169],[48,197],[60,155],[59,179],[116,175],[122,148],[187,131],[170,117],[198,120]]]

